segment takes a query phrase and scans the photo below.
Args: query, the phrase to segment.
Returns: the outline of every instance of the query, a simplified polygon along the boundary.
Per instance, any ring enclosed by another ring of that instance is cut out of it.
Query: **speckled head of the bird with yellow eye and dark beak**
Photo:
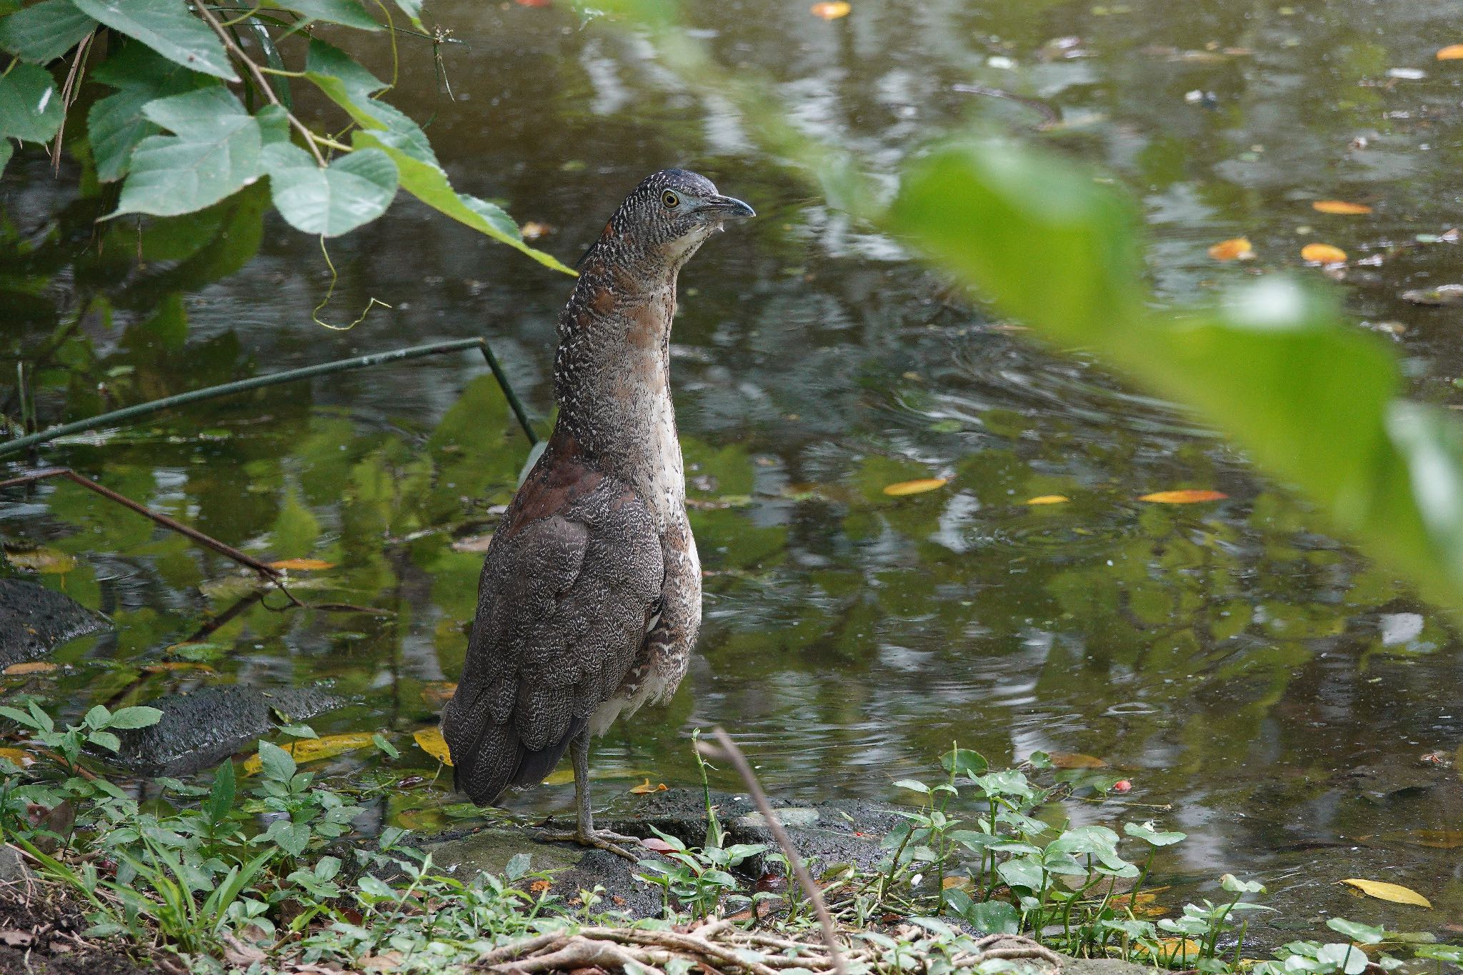
[[[727,221],[756,216],[711,180],[689,170],[661,170],[625,197],[604,228],[606,237],[647,254],[661,254],[679,268]]]

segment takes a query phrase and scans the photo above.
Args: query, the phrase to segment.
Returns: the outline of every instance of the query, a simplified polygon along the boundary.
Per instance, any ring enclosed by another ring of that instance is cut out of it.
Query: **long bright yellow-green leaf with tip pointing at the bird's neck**
[[[512,218],[500,208],[454,190],[417,123],[386,102],[358,95],[339,77],[317,72],[307,72],[306,77],[361,126],[351,134],[357,149],[380,149],[391,156],[396,164],[401,187],[408,193],[440,213],[524,251],[547,268],[575,273],[552,254],[525,244]]]

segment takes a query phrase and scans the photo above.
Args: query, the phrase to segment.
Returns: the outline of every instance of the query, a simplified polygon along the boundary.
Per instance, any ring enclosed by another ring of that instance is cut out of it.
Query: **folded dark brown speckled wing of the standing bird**
[[[480,804],[549,775],[625,680],[664,579],[635,491],[549,460],[493,536],[462,678],[442,713],[458,786]]]

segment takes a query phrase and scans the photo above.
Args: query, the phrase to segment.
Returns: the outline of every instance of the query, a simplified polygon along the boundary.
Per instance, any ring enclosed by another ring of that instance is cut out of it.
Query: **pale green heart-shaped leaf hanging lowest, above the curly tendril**
[[[396,165],[379,149],[357,149],[322,170],[304,149],[279,142],[262,161],[275,206],[306,234],[347,234],[385,213],[396,196]]]

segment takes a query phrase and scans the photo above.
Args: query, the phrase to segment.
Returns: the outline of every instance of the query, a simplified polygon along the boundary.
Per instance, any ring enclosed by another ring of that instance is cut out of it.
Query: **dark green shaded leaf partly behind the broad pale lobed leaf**
[[[97,162],[97,178],[102,183],[124,177],[138,143],[161,132],[142,114],[143,105],[157,98],[219,83],[174,64],[138,41],[127,41],[121,50],[110,54],[92,72],[92,77],[119,89],[94,102],[86,113],[86,134]]]

